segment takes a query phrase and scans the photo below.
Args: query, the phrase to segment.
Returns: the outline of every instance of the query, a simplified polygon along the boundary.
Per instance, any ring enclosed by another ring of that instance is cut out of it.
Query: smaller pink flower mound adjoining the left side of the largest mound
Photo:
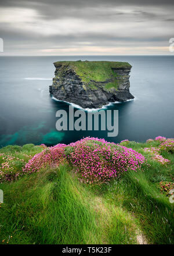
[[[65,144],[57,144],[54,147],[46,148],[42,152],[34,155],[26,164],[25,168],[23,168],[21,175],[24,175],[24,173],[38,172],[46,165],[59,165],[64,159],[65,147]]]

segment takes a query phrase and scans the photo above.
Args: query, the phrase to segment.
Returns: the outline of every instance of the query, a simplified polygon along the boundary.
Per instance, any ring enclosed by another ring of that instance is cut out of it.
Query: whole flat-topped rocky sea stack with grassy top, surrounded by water
[[[56,62],[50,94],[82,108],[133,99],[129,92],[131,65],[125,62]]]

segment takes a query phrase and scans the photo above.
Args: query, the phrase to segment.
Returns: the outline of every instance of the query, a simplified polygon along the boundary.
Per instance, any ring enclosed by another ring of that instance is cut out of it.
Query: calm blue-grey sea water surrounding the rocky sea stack
[[[133,101],[113,104],[118,109],[119,132],[57,131],[56,111],[68,104],[49,94],[55,67],[63,60],[126,61],[131,70]],[[174,56],[48,56],[0,58],[0,146],[26,143],[54,145],[94,136],[119,142],[174,136]]]

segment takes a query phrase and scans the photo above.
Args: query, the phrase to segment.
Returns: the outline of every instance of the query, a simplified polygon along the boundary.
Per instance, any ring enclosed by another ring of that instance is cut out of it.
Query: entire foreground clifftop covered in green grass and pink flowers
[[[172,244],[174,140],[0,150],[0,243]]]

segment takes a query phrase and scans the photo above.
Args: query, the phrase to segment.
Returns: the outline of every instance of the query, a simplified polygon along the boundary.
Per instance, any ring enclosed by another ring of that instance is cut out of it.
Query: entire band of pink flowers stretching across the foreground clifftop
[[[128,141],[123,140],[121,143]],[[153,140],[149,139],[146,142],[151,141]],[[160,146],[147,147],[144,151],[150,152],[152,158],[162,164],[171,162],[163,158],[161,153],[174,152],[174,139],[158,136],[154,141],[160,141]],[[32,158],[31,155],[24,154],[31,158],[27,160],[28,163],[24,159],[0,154],[0,183],[5,180],[11,181],[25,173],[38,172],[46,165],[57,166],[67,160],[86,183],[104,183],[128,170],[137,171],[146,161],[142,154],[132,148],[109,143],[103,138],[86,137],[69,145],[57,144],[54,147],[46,147],[41,144],[41,147],[43,151]]]

